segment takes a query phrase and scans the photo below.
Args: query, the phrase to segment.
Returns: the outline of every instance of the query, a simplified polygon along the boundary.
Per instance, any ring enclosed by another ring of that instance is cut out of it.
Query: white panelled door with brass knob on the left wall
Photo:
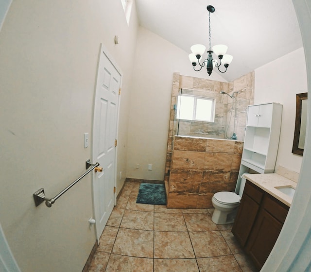
[[[102,172],[93,172],[93,205],[98,241],[115,204],[115,141],[120,85],[121,74],[102,46],[96,82],[92,150],[93,163],[99,162],[103,168]]]

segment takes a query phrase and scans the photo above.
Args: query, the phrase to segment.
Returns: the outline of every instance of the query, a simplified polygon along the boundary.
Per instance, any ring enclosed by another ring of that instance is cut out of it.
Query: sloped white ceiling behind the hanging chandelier
[[[215,12],[210,14],[211,46],[225,44],[227,53],[233,55],[228,70],[221,74],[227,81],[303,46],[292,0],[136,0],[136,3],[142,27],[187,53],[193,44],[204,44],[208,49],[206,7],[214,6]],[[289,69],[292,61],[289,59]],[[198,72],[198,76],[206,77],[206,69]]]

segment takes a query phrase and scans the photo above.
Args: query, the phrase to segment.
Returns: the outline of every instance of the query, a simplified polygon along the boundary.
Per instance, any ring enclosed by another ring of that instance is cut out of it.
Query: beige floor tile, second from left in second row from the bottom
[[[120,228],[112,253],[134,257],[153,258],[154,232]]]

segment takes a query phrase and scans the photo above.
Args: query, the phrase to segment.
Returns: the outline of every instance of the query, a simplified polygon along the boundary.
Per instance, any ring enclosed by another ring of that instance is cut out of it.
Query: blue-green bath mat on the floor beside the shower
[[[164,184],[141,183],[136,203],[166,205]]]

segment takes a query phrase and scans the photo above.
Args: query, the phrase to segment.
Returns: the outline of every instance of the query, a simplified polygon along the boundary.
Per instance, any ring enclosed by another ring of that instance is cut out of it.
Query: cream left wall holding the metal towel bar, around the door
[[[91,148],[101,42],[123,72],[118,172],[125,178],[129,85],[138,22],[128,26],[116,0],[13,0],[0,32],[0,222],[21,271],[82,271],[95,243],[91,177],[52,208],[33,193],[56,195],[85,172]],[[114,36],[120,35],[120,44]]]

